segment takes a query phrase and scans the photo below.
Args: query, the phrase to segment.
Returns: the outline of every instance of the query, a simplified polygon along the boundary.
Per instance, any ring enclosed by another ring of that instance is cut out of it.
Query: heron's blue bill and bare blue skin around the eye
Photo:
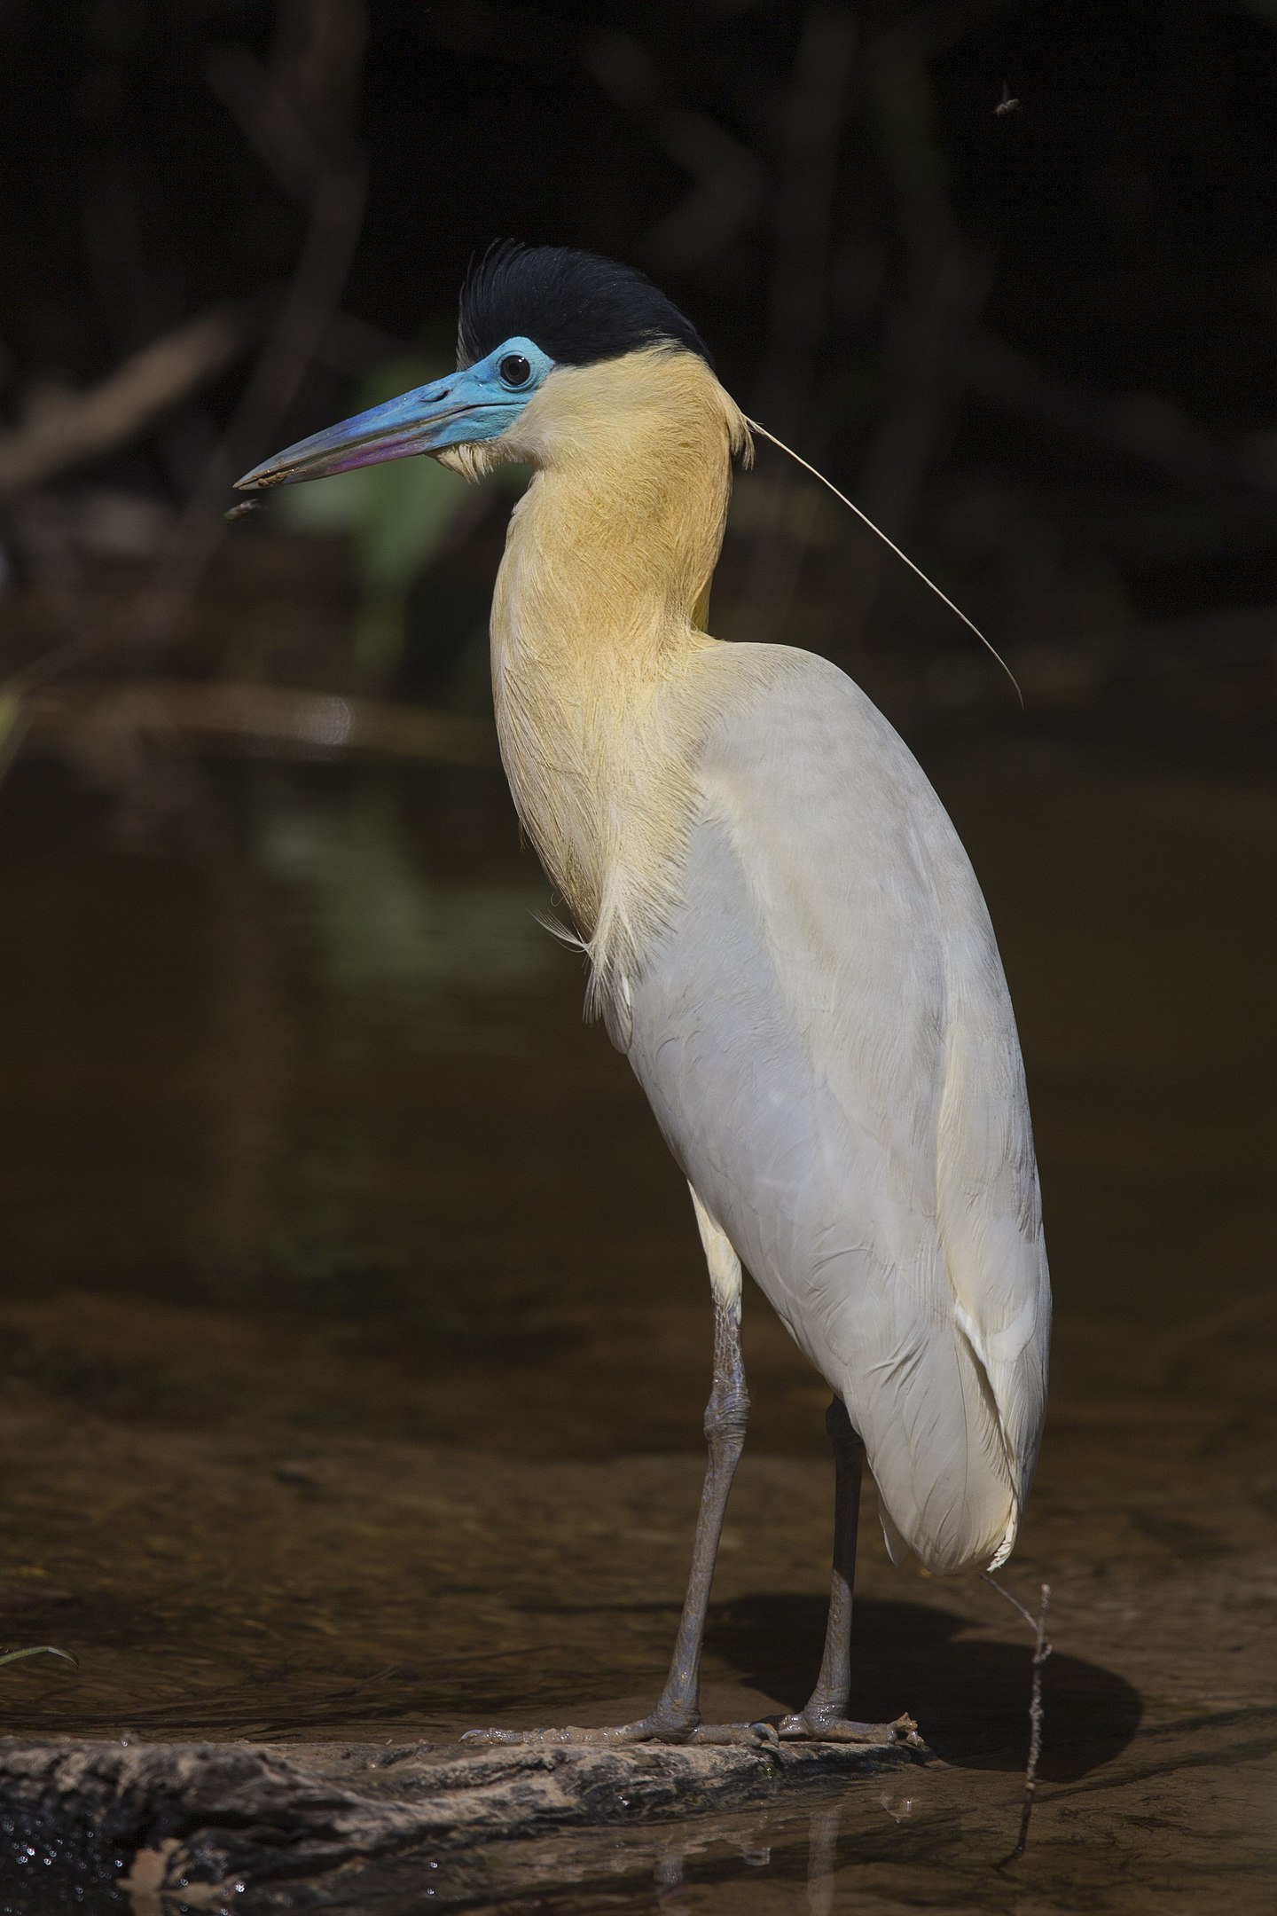
[[[260,492],[272,485],[348,473],[356,466],[379,466],[381,460],[406,460],[415,452],[442,452],[444,446],[477,439],[500,439],[549,372],[553,360],[530,339],[505,339],[496,353],[475,360],[465,372],[400,393],[385,406],[299,439],[295,446],[276,452],[237,479],[235,490]]]

